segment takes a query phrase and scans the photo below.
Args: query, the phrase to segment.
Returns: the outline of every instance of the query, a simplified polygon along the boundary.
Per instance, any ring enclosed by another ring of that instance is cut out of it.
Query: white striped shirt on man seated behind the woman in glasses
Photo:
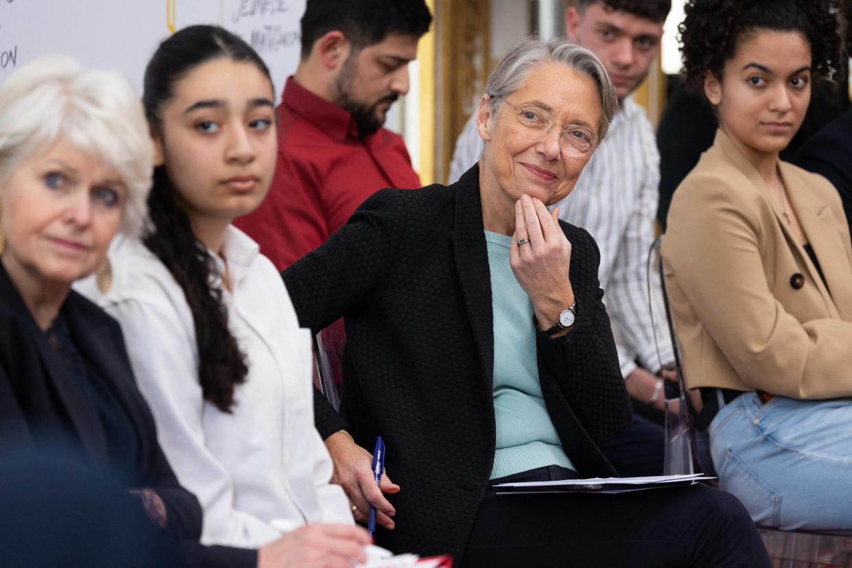
[[[474,115],[456,142],[451,183],[479,160],[483,146]],[[659,278],[653,278],[654,305],[648,306],[648,250],[653,244],[658,187],[659,151],[653,128],[644,109],[628,97],[577,185],[558,204],[561,219],[586,229],[601,249],[598,278],[607,292],[604,302],[623,376],[636,369],[636,359],[651,372],[674,360]]]

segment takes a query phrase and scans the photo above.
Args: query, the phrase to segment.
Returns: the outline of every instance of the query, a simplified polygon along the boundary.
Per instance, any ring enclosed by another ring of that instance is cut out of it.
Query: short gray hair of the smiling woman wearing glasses
[[[602,109],[597,135],[598,142],[602,141],[607,135],[609,123],[613,121],[619,106],[613,82],[609,80],[606,68],[595,54],[578,43],[562,37],[554,37],[548,42],[543,42],[533,36],[515,43],[515,47],[488,76],[485,92],[492,97],[489,100],[492,109],[496,112],[503,102],[503,97],[520,89],[533,68],[545,63],[561,63],[573,72],[590,77],[595,82]]]

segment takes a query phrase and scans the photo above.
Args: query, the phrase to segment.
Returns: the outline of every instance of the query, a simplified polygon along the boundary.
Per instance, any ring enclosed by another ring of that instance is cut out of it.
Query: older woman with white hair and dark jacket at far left
[[[124,78],[83,72],[68,57],[46,55],[14,72],[0,89],[0,435],[5,447],[70,453],[72,461],[106,470],[127,490],[126,507],[147,513],[156,527],[154,541],[173,547],[165,534],[181,543],[170,560],[155,565],[255,565],[254,551],[199,544],[199,502],[178,484],[158,445],[118,323],[72,290],[75,280],[99,267],[99,277],[110,278],[103,264],[107,248],[119,231],[140,232],[152,171],[147,120]],[[113,498],[110,489],[104,487],[104,499]],[[97,508],[81,507],[89,504]],[[43,507],[32,503],[33,510],[47,511]],[[55,519],[95,522],[79,511],[44,514],[60,542],[78,533]],[[104,527],[101,534],[115,537],[113,529]],[[90,544],[132,548],[140,532],[122,534],[124,545]],[[49,536],[41,546],[60,547]],[[4,550],[14,546],[6,542]],[[95,551],[74,546],[62,562],[126,564],[79,556]]]

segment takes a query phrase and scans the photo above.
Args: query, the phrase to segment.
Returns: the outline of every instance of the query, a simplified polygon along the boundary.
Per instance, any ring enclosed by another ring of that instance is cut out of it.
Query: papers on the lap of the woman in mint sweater
[[[596,493],[625,493],[676,485],[692,485],[702,479],[716,479],[704,473],[684,475],[650,475],[647,477],[607,477],[590,479],[556,479],[554,481],[521,481],[494,485],[498,495],[518,493],[564,493],[592,491]]]

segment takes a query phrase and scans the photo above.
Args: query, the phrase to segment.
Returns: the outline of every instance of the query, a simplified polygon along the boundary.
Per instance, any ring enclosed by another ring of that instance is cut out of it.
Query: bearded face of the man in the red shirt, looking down
[[[390,106],[408,93],[408,64],[417,57],[416,35],[392,33],[353,51],[335,80],[334,103],[352,113],[361,134],[379,129]]]

